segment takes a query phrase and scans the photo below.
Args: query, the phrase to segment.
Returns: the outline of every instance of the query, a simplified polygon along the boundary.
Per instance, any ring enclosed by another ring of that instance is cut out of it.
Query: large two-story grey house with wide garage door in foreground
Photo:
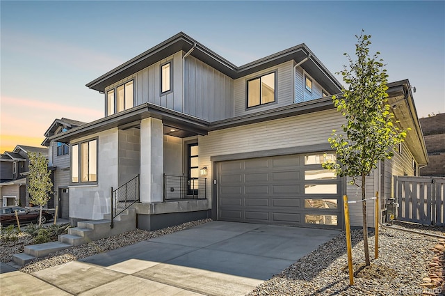
[[[87,86],[104,93],[104,118],[49,137],[71,146],[73,224],[102,219],[111,187],[138,174],[143,229],[205,217],[342,228],[343,194],[361,198],[322,169],[334,158],[327,138],[345,123],[332,104],[341,84],[305,44],[238,67],[178,33]],[[401,127],[412,131],[367,178],[381,210],[392,176],[414,176],[428,162],[409,81],[388,86]],[[372,203],[369,213],[372,221]],[[351,205],[353,226],[361,215]]]

